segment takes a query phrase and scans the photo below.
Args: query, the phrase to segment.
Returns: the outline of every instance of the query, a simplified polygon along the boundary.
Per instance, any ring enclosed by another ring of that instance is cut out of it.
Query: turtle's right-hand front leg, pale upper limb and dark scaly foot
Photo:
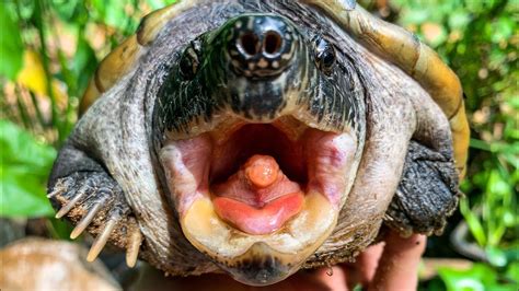
[[[446,116],[430,100],[415,101],[416,131],[384,222],[402,235],[440,235],[461,193]]]

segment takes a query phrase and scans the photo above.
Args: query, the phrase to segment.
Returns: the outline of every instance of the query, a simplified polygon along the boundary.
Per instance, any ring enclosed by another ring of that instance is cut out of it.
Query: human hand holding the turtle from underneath
[[[164,278],[147,270],[132,290],[353,290],[361,284],[365,290],[416,290],[418,264],[425,251],[426,236],[414,234],[407,238],[389,231],[384,242],[368,247],[356,263],[331,268],[301,270],[290,278],[267,287],[250,287],[226,275]]]

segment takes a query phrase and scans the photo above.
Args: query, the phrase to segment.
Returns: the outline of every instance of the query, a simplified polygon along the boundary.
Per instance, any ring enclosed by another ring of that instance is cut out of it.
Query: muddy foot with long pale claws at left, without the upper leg
[[[56,218],[65,216],[74,222],[71,238],[78,237],[86,228],[96,233],[86,260],[93,261],[106,242],[117,232],[123,232],[123,245],[127,248],[126,263],[134,267],[142,242],[142,234],[118,184],[105,173],[84,172],[57,179],[48,196],[56,209]],[[115,230],[115,232],[114,232]],[[89,230],[90,231],[90,230]]]

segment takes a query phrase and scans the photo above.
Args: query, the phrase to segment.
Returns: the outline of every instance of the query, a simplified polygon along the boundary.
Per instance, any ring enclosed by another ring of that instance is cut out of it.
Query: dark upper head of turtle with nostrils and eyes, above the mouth
[[[344,57],[287,18],[242,14],[187,43],[159,92],[155,116],[162,131],[173,128],[177,137],[207,131],[223,115],[249,123],[291,115],[322,130],[362,130],[364,92]]]

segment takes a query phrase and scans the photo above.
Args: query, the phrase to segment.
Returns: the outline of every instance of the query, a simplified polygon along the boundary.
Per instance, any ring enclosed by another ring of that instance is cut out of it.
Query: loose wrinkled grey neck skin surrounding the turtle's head
[[[273,7],[270,7],[273,5]],[[312,9],[288,5],[281,12],[296,24],[319,26]],[[95,147],[93,154],[123,187],[145,236],[142,257],[172,275],[221,271],[184,236],[178,213],[168,188],[160,152],[164,132],[153,127],[158,90],[168,66],[187,42],[243,12],[276,12],[276,4],[240,2],[227,7],[208,2],[169,23],[149,48],[138,69],[96,102],[74,132],[78,144]],[[310,13],[310,14],[309,14]],[[207,15],[211,15],[208,20]],[[299,16],[298,16],[299,15]],[[318,27],[359,73],[365,100],[364,129],[357,140],[355,176],[338,203],[338,222],[324,243],[301,267],[322,266],[351,259],[377,236],[379,225],[399,185],[407,144],[412,138],[447,137],[448,124],[430,96],[408,75],[384,62],[334,24]],[[99,116],[106,116],[97,123]],[[111,138],[107,139],[106,136]],[[92,144],[94,141],[94,144]],[[432,144],[440,148],[441,144]]]

